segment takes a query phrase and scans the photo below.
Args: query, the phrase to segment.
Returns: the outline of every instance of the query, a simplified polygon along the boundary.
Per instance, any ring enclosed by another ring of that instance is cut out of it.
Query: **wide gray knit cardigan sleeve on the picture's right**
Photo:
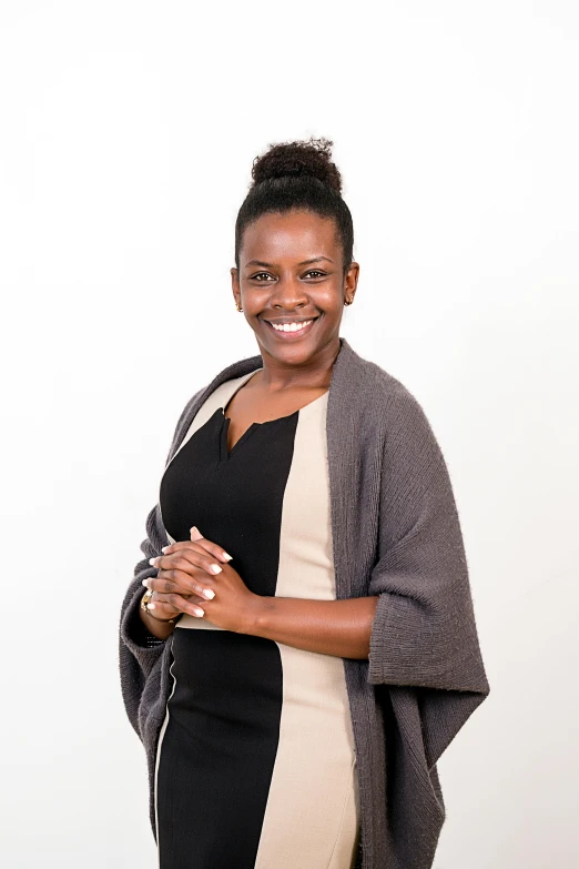
[[[414,699],[431,767],[489,686],[447,466],[423,408],[402,384],[387,411],[368,594],[378,595],[368,681]]]

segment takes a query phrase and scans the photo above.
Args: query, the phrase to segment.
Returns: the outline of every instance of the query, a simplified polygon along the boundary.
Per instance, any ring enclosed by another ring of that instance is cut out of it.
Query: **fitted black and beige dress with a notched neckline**
[[[193,418],[161,481],[164,527],[174,542],[196,525],[255,594],[335,599],[328,392],[253,423],[227,452],[224,408],[257,371],[222,383]],[[185,614],[170,673],[160,869],[352,869],[360,811],[343,659]]]

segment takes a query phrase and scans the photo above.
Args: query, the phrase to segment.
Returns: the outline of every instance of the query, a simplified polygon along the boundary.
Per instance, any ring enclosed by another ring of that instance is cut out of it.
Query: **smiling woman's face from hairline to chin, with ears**
[[[262,355],[295,365],[337,351],[344,302],[354,299],[359,266],[352,263],[344,275],[336,235],[334,220],[303,210],[263,214],[246,228],[232,286]],[[272,325],[308,320],[314,322],[295,332]]]

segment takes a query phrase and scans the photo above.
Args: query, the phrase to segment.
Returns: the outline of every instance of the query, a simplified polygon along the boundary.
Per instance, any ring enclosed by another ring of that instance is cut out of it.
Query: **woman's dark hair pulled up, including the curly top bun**
[[[243,233],[250,223],[267,212],[292,209],[314,211],[333,218],[342,243],[344,274],[353,256],[354,226],[349,209],[342,199],[342,176],[332,162],[327,139],[307,142],[281,142],[253,161],[253,184],[235,221],[235,265],[240,267]]]

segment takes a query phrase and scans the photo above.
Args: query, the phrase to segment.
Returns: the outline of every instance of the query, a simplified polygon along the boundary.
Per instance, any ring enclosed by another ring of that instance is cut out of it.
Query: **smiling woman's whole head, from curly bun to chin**
[[[327,375],[344,305],[356,292],[352,215],[331,144],[281,144],[257,159],[235,225],[233,294],[262,352],[290,354],[280,388]]]

